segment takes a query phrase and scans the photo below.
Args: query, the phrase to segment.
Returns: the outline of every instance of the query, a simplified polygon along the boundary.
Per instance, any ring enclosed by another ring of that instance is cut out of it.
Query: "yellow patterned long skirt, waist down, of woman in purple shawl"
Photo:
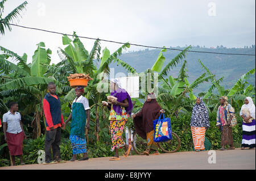
[[[115,148],[119,149],[122,146],[125,146],[125,142],[122,138],[123,129],[125,128],[125,120],[110,120],[110,133],[112,148],[111,151],[114,151]]]

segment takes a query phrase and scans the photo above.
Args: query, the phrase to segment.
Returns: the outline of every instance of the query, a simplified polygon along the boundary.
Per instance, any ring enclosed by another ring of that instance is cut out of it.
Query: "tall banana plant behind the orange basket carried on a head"
[[[104,84],[109,87],[109,82],[103,82],[100,78],[101,73],[109,74],[109,65],[112,62],[117,62],[117,64],[126,68],[129,72],[136,72],[134,68],[132,68],[125,61],[120,60],[117,56],[122,54],[122,51],[126,48],[130,47],[129,43],[122,45],[115,52],[110,54],[110,50],[105,48],[102,51],[101,56],[101,47],[100,41],[96,40],[94,42],[94,46],[90,53],[85,49],[84,45],[80,41],[79,37],[76,33],[73,33],[75,37],[73,40],[69,39],[67,35],[62,37],[63,45],[66,47],[63,49],[59,48],[59,56],[61,58],[61,62],[59,63],[61,66],[56,68],[56,66],[48,66],[50,71],[53,73],[58,72],[61,68],[65,67],[67,69],[66,73],[89,73],[90,77],[93,78],[92,81],[88,83],[88,86],[85,89],[85,97],[89,100],[89,103],[92,104],[90,108],[96,108],[96,136],[98,138],[98,132],[100,132],[99,128],[99,111],[101,108],[101,101],[106,99],[106,92],[98,92],[97,87],[101,84]],[[100,66],[98,66],[98,62],[100,62]],[[69,67],[69,68],[68,68]],[[53,70],[53,71],[52,71]],[[66,78],[67,79],[67,78]],[[75,99],[75,90],[70,89],[67,95],[64,96],[64,102],[70,102]],[[93,119],[93,118],[92,118]]]

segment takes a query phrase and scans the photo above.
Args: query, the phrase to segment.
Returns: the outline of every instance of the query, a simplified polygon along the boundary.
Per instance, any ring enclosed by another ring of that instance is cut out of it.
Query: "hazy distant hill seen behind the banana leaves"
[[[177,49],[184,49],[185,47],[172,47]],[[226,48],[222,45],[217,48],[203,48],[203,47],[192,47],[191,50],[197,51],[207,51],[207,52],[221,52],[221,53],[245,53],[245,54],[255,54],[255,45],[251,47],[245,48]],[[129,63],[129,65],[133,66],[137,70],[138,73],[145,71],[147,68],[151,68],[156,59],[158,58],[158,54],[160,53],[160,49],[152,49],[152,50],[139,50],[137,52],[129,52],[122,54],[119,57],[121,60]],[[164,57],[166,57],[166,61],[164,62],[164,66],[168,64],[180,51],[178,50],[167,50],[163,52]],[[255,56],[240,56],[240,55],[223,55],[223,54],[210,54],[210,53],[194,53],[188,52],[187,57],[187,73],[189,75],[189,82],[194,81],[197,77],[203,74],[204,70],[201,68],[198,60],[201,60],[205,66],[212,71],[213,74],[216,75],[216,78],[220,78],[224,76],[224,81],[221,83],[225,87],[225,89],[230,89],[235,82],[241,77],[241,75],[245,74],[250,69],[255,68]],[[177,68],[174,68],[170,71],[170,75],[173,77],[177,77],[179,74],[179,69],[183,62],[180,62],[177,65]],[[125,69],[121,68],[121,66],[117,66],[116,64],[110,65],[110,68],[115,68],[115,74],[118,72],[126,72]],[[249,79],[249,83],[255,85],[255,75],[251,76]],[[195,94],[205,91],[210,86],[209,83],[204,83],[200,87],[195,90]]]

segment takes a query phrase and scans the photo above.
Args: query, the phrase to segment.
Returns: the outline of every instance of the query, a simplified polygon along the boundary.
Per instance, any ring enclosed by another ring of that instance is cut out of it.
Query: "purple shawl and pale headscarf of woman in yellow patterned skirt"
[[[116,84],[120,84],[119,79],[115,78],[115,79],[111,79],[110,81],[114,81],[117,82]],[[118,86],[119,87],[119,86]],[[131,101],[131,97],[128,94],[128,92],[126,92],[125,89],[121,89],[120,87],[117,90],[114,90],[114,92],[111,92],[112,96],[114,96],[115,98],[117,98],[118,102],[123,102],[123,100],[127,99],[129,106],[125,107],[126,113],[127,115],[131,116],[131,112],[133,111],[133,102]],[[117,115],[122,115],[122,108],[120,105],[114,105],[113,104],[113,110],[115,111],[115,113],[117,113]]]

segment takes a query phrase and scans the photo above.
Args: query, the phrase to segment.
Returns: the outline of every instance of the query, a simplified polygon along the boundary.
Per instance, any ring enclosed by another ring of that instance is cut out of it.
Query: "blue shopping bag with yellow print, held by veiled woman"
[[[162,114],[163,119],[161,119]],[[171,120],[169,117],[164,118],[164,113],[161,113],[159,119],[153,121],[153,125],[155,142],[172,140]]]

